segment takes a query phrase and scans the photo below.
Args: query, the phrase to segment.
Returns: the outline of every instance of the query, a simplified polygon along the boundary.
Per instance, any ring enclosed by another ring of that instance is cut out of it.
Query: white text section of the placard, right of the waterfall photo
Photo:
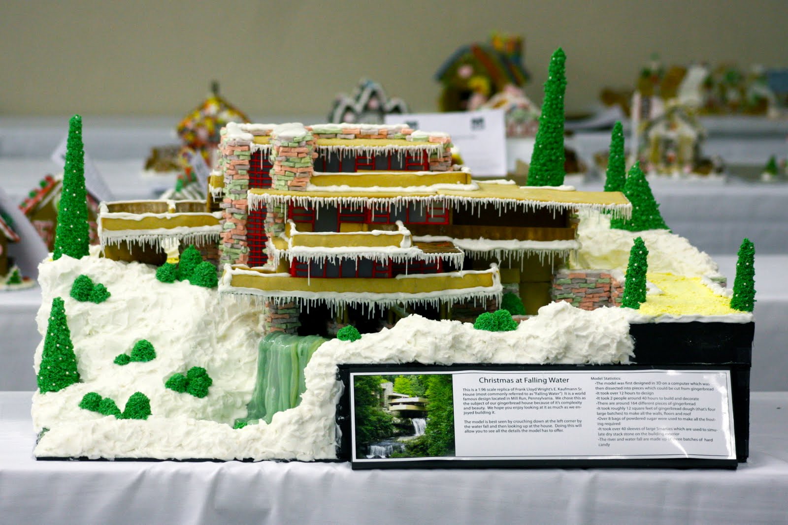
[[[730,372],[455,372],[457,457],[736,458]]]

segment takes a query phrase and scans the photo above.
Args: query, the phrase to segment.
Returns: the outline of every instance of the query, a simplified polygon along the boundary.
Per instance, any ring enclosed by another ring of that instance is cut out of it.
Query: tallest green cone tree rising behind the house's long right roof
[[[559,47],[550,58],[545,82],[545,101],[539,117],[539,131],[533,145],[528,169],[529,186],[560,186],[563,184],[563,95],[567,91],[564,67],[567,55]]]

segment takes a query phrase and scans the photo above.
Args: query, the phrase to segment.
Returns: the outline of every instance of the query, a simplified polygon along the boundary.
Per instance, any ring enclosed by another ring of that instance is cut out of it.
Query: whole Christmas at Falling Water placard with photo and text
[[[351,385],[359,464],[736,460],[728,370],[351,372]]]

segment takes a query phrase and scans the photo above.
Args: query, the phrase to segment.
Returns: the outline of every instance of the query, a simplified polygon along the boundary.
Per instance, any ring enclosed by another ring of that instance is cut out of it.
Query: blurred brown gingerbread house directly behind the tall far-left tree
[[[63,190],[63,176],[47,175],[33,188],[28,197],[20,204],[20,209],[28,217],[35,230],[46,243],[46,247],[54,249],[54,232],[58,227],[58,201]],[[87,192],[87,216],[90,227],[91,244],[99,242],[96,217],[99,214],[99,201]]]

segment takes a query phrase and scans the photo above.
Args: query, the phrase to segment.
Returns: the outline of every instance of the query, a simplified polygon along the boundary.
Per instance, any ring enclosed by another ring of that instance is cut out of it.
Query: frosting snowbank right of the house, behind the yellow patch
[[[626,272],[632,242],[634,238],[641,237],[649,249],[649,272],[686,277],[719,275],[719,267],[712,257],[680,235],[667,230],[614,230],[610,228],[610,216],[605,213],[583,211],[580,216],[578,241],[582,247],[575,268]]]

